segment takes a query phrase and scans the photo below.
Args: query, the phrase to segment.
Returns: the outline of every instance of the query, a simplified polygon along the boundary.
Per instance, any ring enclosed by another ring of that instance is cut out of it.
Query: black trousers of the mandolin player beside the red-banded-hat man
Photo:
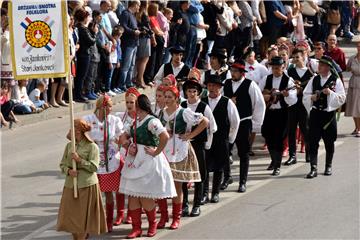
[[[271,162],[275,168],[280,168],[284,149],[284,139],[287,133],[288,109],[267,109],[264,123],[261,127],[261,134],[265,138],[266,145],[270,152]],[[275,154],[272,154],[275,153]]]

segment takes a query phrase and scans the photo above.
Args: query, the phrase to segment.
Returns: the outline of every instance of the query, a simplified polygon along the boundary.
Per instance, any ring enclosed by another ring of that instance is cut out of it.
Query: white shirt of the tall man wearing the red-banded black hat
[[[236,92],[237,89],[244,82],[244,79],[241,79],[240,81],[237,82],[235,81],[231,81],[231,82],[232,82],[232,90],[233,92]],[[251,99],[251,107],[252,107],[251,121],[252,121],[253,131],[256,132],[261,129],[261,125],[263,124],[266,106],[261,90],[254,81],[252,81],[250,84],[249,96]],[[243,120],[245,119],[240,119],[240,124],[241,121]]]

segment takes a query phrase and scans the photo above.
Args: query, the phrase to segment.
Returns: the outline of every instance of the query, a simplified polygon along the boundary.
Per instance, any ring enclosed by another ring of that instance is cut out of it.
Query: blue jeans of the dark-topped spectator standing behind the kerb
[[[123,58],[120,67],[120,88],[132,86],[137,47],[126,47],[123,49]]]

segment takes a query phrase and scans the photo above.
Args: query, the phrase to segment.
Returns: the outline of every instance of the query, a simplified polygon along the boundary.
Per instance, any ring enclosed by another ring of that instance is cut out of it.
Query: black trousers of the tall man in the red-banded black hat
[[[240,183],[246,183],[249,172],[249,151],[250,151],[250,135],[252,131],[251,119],[244,120],[240,123],[235,143],[240,158]],[[230,144],[230,152],[234,144]],[[224,179],[231,176],[230,164],[224,167]]]

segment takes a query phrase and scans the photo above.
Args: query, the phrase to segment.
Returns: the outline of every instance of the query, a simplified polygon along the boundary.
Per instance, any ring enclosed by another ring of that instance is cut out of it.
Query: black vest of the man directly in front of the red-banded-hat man
[[[202,101],[209,104],[207,97],[203,98]],[[222,96],[214,108],[213,115],[218,129],[214,133],[213,142],[229,141],[230,119],[227,111],[228,102],[229,98]]]

